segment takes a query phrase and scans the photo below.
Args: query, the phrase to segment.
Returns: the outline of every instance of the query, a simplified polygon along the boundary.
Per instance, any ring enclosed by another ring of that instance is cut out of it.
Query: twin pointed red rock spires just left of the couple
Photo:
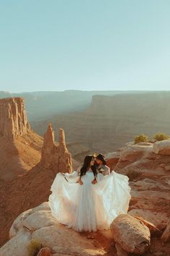
[[[66,148],[65,135],[63,129],[60,129],[59,144],[55,143],[54,132],[51,124],[44,135],[44,144],[42,147],[42,158],[40,164],[45,168],[51,168],[55,173],[71,172],[72,161],[71,153]]]

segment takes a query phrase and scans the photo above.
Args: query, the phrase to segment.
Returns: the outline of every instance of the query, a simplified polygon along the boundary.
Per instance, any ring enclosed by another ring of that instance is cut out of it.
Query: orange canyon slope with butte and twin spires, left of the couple
[[[11,104],[15,108],[11,108]],[[51,124],[43,139],[32,131],[23,98],[2,99],[0,107],[1,124],[4,120],[6,124],[5,129],[1,129],[0,138],[6,147],[5,152],[3,145],[0,148],[0,241],[3,244],[8,239],[8,229],[14,217],[49,197],[55,175],[59,171],[70,173],[72,166],[79,163],[73,161],[72,164],[63,129],[59,130],[59,142],[55,142]],[[7,117],[4,113],[8,114]]]

